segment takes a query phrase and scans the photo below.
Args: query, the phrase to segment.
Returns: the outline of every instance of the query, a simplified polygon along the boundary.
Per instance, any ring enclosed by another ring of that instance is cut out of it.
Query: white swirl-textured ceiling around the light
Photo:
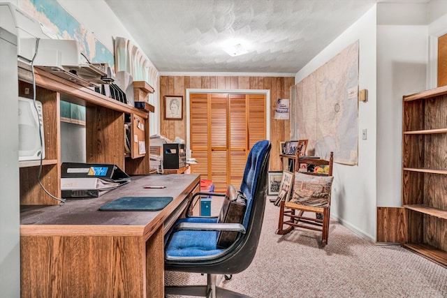
[[[378,0],[105,2],[161,72],[296,73]]]

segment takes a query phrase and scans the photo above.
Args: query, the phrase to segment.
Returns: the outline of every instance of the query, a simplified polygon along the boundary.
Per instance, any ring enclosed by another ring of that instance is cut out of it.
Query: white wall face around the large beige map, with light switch
[[[334,165],[330,215],[362,237],[375,240],[376,6],[302,68],[295,82],[300,82],[356,40],[359,40],[359,89],[368,90],[368,102],[359,103],[358,165]],[[367,129],[367,140],[362,140],[362,129]]]

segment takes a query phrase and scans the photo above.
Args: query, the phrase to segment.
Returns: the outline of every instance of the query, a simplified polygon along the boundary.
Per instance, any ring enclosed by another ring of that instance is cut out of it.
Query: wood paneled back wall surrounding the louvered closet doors
[[[270,170],[281,170],[279,158],[279,142],[290,137],[290,121],[274,120],[274,107],[277,98],[291,98],[290,88],[295,84],[295,77],[237,77],[237,76],[160,76],[160,98],[163,96],[183,96],[186,107],[186,89],[267,89],[270,90]],[[186,111],[182,120],[165,120],[164,107],[160,108],[160,133],[174,140],[180,137],[186,140]]]

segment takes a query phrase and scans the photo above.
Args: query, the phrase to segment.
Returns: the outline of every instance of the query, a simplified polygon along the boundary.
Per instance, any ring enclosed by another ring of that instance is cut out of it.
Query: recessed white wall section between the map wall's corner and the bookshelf
[[[427,6],[377,7],[377,206],[400,207],[402,96],[426,89]]]

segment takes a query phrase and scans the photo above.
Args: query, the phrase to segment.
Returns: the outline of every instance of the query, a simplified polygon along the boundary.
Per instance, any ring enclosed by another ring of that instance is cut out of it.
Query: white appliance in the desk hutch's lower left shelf
[[[42,138],[42,142],[41,142]],[[45,158],[42,103],[19,97],[19,161]]]

